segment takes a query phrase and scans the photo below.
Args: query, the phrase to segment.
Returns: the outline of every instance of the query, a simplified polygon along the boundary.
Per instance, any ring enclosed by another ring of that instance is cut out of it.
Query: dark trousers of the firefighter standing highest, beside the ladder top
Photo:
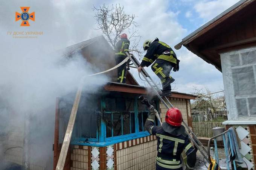
[[[127,56],[126,55],[115,55],[116,64],[122,62]],[[117,82],[126,83],[126,62],[117,68]]]

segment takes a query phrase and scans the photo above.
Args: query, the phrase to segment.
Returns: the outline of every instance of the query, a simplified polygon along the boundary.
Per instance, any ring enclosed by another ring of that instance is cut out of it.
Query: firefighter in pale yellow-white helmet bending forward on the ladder
[[[148,67],[154,61],[151,69],[160,78],[163,91],[160,96],[170,96],[171,95],[171,83],[175,81],[174,78],[170,76],[170,72],[179,70],[179,62],[176,54],[170,46],[159,41],[155,38],[153,41],[146,40],[143,44],[143,49],[147,50],[146,55],[142,59],[138,71],[143,67]]]

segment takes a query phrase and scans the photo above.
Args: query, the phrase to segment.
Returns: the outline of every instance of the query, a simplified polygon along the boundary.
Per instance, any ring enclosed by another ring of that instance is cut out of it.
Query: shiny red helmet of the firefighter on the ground
[[[165,121],[172,126],[181,126],[182,123],[181,111],[177,108],[169,108],[165,115]]]

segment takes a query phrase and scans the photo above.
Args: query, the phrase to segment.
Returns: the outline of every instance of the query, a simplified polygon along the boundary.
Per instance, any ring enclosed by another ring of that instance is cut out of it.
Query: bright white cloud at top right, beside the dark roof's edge
[[[203,0],[198,2],[194,8],[199,16],[206,21],[211,20],[226,9],[237,3],[239,0]]]

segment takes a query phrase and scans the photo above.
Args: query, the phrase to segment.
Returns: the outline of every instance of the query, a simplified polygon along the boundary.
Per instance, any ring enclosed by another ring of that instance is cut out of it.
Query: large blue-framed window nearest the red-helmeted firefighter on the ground
[[[120,96],[120,97],[116,97]],[[104,141],[113,141],[122,138],[136,138],[149,133],[144,129],[144,123],[149,111],[145,105],[137,100],[138,96],[106,96],[103,100],[104,112]],[[157,100],[150,102],[157,108]],[[158,125],[156,119],[155,124]]]

